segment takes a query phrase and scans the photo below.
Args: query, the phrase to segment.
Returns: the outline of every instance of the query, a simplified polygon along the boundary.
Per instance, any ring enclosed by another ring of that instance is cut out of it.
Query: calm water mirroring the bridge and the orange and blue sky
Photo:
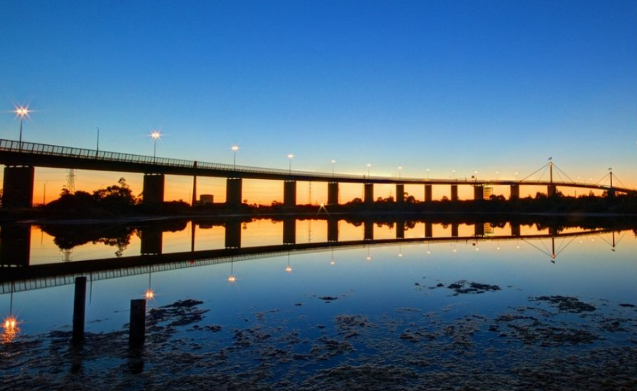
[[[341,220],[335,237],[334,224],[4,225],[1,261],[17,266],[0,312],[19,333],[5,331],[1,385],[568,388],[556,368],[586,373],[581,389],[637,384],[634,230]],[[78,273],[94,338],[76,357]],[[131,365],[120,331],[149,290],[155,320]]]

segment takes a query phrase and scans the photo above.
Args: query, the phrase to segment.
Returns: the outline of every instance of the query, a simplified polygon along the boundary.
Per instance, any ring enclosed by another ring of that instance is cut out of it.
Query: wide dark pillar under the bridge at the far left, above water
[[[33,206],[33,178],[36,168],[6,166],[2,190],[2,208],[31,208]]]

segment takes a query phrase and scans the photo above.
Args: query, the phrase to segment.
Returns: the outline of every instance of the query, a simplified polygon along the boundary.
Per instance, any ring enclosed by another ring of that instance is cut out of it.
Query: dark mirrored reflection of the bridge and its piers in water
[[[191,251],[172,252],[162,254],[162,229],[157,225],[141,228],[140,255],[127,257],[112,257],[105,259],[91,259],[86,261],[58,262],[53,264],[29,265],[29,251],[31,245],[31,230],[29,225],[6,225],[2,227],[0,246],[0,294],[14,291],[41,289],[49,286],[73,284],[76,277],[88,277],[90,281],[99,279],[111,279],[126,277],[135,274],[147,274],[186,267],[205,266],[209,264],[222,264],[239,262],[250,259],[263,259],[280,257],[284,255],[305,254],[310,252],[325,252],[330,250],[355,249],[378,245],[401,245],[408,243],[459,243],[466,242],[477,245],[482,241],[509,241],[522,240],[530,244],[531,240],[551,240],[551,250],[539,249],[549,259],[555,259],[561,251],[576,237],[586,235],[600,235],[605,232],[613,233],[615,246],[615,230],[594,229],[581,230],[579,232],[558,232],[549,227],[547,233],[522,235],[519,223],[510,223],[509,235],[491,235],[485,233],[485,223],[474,224],[474,235],[458,235],[459,223],[451,223],[450,236],[434,237],[433,223],[425,222],[424,235],[420,237],[405,237],[405,221],[396,222],[395,239],[375,239],[374,225],[376,222],[365,220],[363,222],[363,240],[338,240],[338,220],[328,220],[327,241],[314,243],[296,243],[296,220],[287,218],[283,220],[283,238],[279,245],[262,245],[255,247],[242,247],[242,222],[229,220],[222,225],[225,227],[224,248],[217,250],[195,251],[195,230],[192,223]],[[202,225],[200,225],[202,226]],[[209,224],[205,224],[209,227]],[[556,238],[571,238],[571,241],[556,247]]]

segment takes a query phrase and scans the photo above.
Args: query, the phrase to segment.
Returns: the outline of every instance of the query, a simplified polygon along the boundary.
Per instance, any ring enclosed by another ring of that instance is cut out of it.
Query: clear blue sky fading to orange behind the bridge
[[[29,105],[24,140],[43,144],[95,148],[99,127],[100,149],[152,155],[160,129],[177,159],[232,163],[238,144],[251,166],[514,178],[552,157],[637,186],[635,1],[4,1],[0,53],[2,139]],[[36,171],[51,196],[65,177]]]

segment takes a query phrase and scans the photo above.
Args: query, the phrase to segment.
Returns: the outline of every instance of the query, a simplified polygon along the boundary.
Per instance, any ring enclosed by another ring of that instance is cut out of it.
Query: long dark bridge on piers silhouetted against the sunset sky
[[[144,202],[157,203],[164,199],[165,175],[192,176],[192,199],[197,197],[197,176],[227,178],[226,200],[228,205],[242,203],[242,180],[270,179],[284,181],[284,205],[296,205],[296,182],[318,181],[328,183],[328,204],[338,204],[339,183],[361,183],[364,186],[364,201],[373,203],[373,186],[376,183],[390,183],[396,186],[396,202],[405,202],[405,184],[423,185],[424,200],[433,200],[432,186],[450,186],[450,200],[458,200],[458,186],[473,186],[476,200],[485,197],[484,187],[489,185],[510,186],[511,198],[519,198],[520,186],[547,186],[547,194],[556,193],[557,186],[586,188],[591,190],[608,191],[610,194],[637,193],[637,191],[613,186],[611,175],[610,185],[577,183],[575,181],[554,181],[553,164],[550,168],[548,181],[532,181],[526,178],[517,180],[486,180],[472,178],[460,179],[424,179],[424,178],[390,178],[381,176],[349,175],[338,173],[318,173],[309,171],[281,170],[274,168],[259,168],[235,166],[232,164],[204,163],[201,161],[187,161],[180,159],[155,158],[116,152],[96,151],[90,149],[72,148],[67,146],[53,146],[36,143],[19,143],[18,141],[0,140],[0,164],[4,168],[4,207],[31,207],[33,199],[33,176],[35,167],[76,168],[98,171],[117,171],[144,173]]]

